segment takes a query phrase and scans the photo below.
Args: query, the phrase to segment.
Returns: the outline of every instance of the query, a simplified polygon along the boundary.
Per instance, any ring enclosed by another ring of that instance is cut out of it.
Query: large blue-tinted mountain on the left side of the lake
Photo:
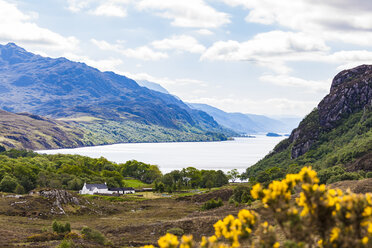
[[[156,142],[159,135],[161,141],[224,140],[222,133],[232,133],[169,94],[84,63],[35,55],[14,43],[0,45],[0,108],[73,120],[114,135],[114,142]]]

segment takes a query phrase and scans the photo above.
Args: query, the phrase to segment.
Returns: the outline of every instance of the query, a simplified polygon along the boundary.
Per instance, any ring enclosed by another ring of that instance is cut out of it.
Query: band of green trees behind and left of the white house
[[[3,192],[15,192],[17,188],[18,193],[27,193],[37,187],[80,190],[84,182],[133,187],[126,184],[127,176],[132,178],[128,183],[141,187],[162,174],[156,165],[135,160],[116,164],[102,157],[42,155],[14,149],[0,153],[0,191]]]

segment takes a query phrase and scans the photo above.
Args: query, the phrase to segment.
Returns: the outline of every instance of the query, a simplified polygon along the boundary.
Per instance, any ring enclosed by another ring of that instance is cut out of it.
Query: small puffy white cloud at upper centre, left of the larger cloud
[[[152,46],[159,50],[178,50],[190,53],[202,53],[205,47],[194,37],[187,35],[172,36],[164,40],[153,41]]]

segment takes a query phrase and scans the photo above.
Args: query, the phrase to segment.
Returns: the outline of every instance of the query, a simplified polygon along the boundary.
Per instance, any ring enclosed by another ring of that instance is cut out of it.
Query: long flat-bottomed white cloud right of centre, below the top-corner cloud
[[[329,47],[322,39],[305,33],[270,31],[245,42],[218,41],[209,47],[201,60],[250,61],[274,71],[290,71],[286,61],[303,60],[324,54]]]

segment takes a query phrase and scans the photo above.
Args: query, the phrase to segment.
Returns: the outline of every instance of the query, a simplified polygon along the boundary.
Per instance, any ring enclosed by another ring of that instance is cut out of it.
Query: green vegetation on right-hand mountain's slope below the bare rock
[[[249,167],[244,176],[267,183],[282,179],[289,173],[297,173],[305,165],[311,165],[319,172],[320,183],[340,180],[357,180],[371,176],[358,172],[345,172],[357,158],[372,150],[372,111],[354,113],[339,122],[332,130],[323,130],[318,124],[317,110],[310,113],[301,123],[302,139],[291,143],[289,139],[280,142],[274,152]],[[306,128],[304,128],[306,127]],[[304,155],[291,159],[292,147],[319,132],[317,141]],[[351,168],[357,170],[357,168]]]

